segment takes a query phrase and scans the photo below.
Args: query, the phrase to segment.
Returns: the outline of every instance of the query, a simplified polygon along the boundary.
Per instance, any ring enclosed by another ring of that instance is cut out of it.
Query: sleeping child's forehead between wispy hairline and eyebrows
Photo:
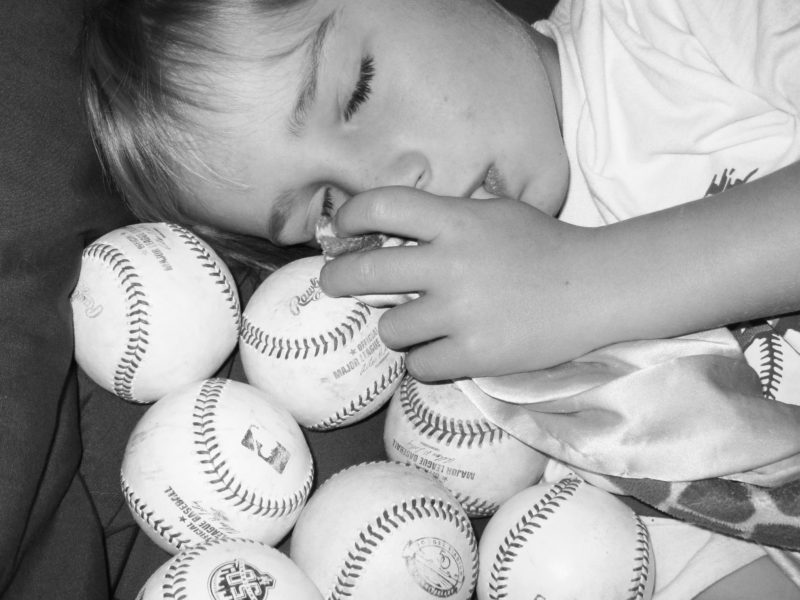
[[[232,230],[248,222],[254,230],[244,233],[261,232],[274,239],[270,234],[281,223],[268,226],[263,204],[286,204],[290,198],[267,189],[264,174],[254,171],[258,160],[253,158],[280,153],[280,138],[289,135],[293,113],[308,101],[302,90],[332,26],[334,4],[310,0],[265,14],[248,25],[246,34],[221,37],[228,48],[225,57],[209,61],[194,75],[196,93],[208,98],[199,98],[200,110],[188,108],[190,129],[182,136],[185,209],[193,218]],[[252,214],[242,214],[251,208]]]

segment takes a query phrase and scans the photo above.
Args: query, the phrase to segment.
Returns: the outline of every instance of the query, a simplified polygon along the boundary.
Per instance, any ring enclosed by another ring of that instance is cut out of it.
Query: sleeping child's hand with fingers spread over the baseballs
[[[420,292],[387,311],[380,335],[408,350],[421,380],[500,375],[594,349],[587,283],[592,229],[516,200],[434,196],[412,188],[360,194],[335,217],[339,235],[382,232],[419,246],[341,256],[321,275],[332,296]]]

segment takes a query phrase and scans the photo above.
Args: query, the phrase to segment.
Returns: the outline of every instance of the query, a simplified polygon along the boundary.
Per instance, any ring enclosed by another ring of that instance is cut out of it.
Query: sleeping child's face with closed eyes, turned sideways
[[[244,185],[190,175],[193,216],[284,245],[313,240],[326,190],[334,204],[404,185],[558,211],[568,166],[528,25],[490,0],[313,0],[301,11],[302,31],[275,39],[311,32],[308,43],[237,73],[246,110],[208,115],[210,131],[227,133],[201,142],[201,156]]]

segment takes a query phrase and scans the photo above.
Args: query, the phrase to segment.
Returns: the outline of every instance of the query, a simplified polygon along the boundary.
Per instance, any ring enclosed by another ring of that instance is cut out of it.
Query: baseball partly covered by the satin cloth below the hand
[[[471,517],[486,517],[538,482],[549,458],[490,421],[457,382],[403,378],[386,413],[387,456],[431,473]]]

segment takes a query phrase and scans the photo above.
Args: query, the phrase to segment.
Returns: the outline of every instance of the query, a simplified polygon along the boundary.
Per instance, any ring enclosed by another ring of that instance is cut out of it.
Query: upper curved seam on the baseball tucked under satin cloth
[[[483,446],[500,442],[506,433],[485,419],[454,419],[445,417],[425,404],[417,382],[406,377],[400,384],[400,405],[403,413],[421,435],[435,438],[446,446],[456,448]]]

